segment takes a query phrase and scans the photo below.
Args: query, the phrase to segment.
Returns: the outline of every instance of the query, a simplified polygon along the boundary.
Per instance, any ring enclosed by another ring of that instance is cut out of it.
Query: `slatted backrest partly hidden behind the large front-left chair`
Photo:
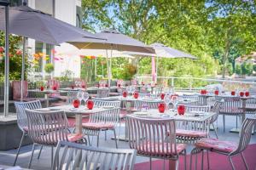
[[[15,102],[15,109],[17,113],[17,124],[21,131],[28,127],[26,109],[35,110],[42,108],[41,102],[39,100],[29,101],[29,102]]]

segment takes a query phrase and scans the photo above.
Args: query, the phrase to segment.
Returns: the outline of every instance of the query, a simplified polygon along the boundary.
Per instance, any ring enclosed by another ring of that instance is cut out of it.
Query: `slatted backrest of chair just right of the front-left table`
[[[119,113],[120,108],[114,108],[108,111],[90,114],[89,122],[113,123],[114,125],[117,125],[119,122]]]

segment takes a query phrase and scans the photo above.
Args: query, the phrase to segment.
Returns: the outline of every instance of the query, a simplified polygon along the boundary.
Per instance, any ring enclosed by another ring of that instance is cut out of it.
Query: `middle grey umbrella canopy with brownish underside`
[[[105,38],[104,40],[94,40],[86,42],[86,38],[78,38],[70,41],[77,48],[83,49],[115,49],[118,51],[133,51],[154,54],[154,48],[145,45],[134,38],[125,36],[115,30],[102,31],[96,33],[96,36]]]

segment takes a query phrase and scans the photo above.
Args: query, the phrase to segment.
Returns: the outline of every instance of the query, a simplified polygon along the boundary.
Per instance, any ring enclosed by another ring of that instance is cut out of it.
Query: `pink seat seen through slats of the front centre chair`
[[[147,156],[154,156],[154,155],[163,155],[163,156],[172,156],[173,154],[176,154],[174,152],[174,145],[172,144],[172,152],[171,152],[171,145],[168,145],[167,150],[167,144],[169,143],[151,143],[149,144],[141,144],[140,150],[137,150],[138,154],[143,154]],[[164,145],[164,146],[163,146]],[[177,154],[180,154],[183,150],[186,149],[186,144],[176,144],[176,150]]]

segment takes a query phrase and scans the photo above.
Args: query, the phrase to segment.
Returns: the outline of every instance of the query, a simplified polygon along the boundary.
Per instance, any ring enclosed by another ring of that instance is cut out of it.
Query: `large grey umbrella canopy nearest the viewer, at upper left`
[[[4,28],[4,8],[0,8],[0,30]],[[79,37],[96,38],[88,31],[27,6],[9,8],[9,32],[54,45]]]

